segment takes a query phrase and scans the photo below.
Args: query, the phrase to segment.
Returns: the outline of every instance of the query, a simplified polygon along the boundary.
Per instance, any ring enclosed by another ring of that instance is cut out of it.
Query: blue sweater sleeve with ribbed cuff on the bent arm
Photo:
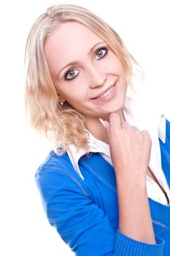
[[[88,192],[65,170],[41,169],[36,184],[50,224],[78,256],[161,256],[163,240],[144,244],[113,230]]]

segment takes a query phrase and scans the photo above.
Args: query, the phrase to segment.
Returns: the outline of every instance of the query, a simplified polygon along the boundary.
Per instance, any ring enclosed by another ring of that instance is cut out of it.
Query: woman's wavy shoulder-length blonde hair
[[[77,148],[88,148],[83,116],[72,108],[61,108],[58,94],[50,77],[45,58],[48,35],[60,23],[76,21],[101,37],[120,59],[131,83],[134,57],[128,53],[120,36],[93,12],[72,4],[58,4],[47,9],[36,19],[26,43],[26,110],[32,126],[45,132],[48,138],[59,141],[63,148],[73,143]]]

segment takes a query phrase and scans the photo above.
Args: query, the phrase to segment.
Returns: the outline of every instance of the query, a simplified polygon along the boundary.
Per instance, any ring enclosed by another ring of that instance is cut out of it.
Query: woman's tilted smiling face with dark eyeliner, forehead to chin
[[[59,97],[85,118],[107,118],[123,108],[127,84],[122,64],[86,26],[61,24],[47,38],[45,56]]]

